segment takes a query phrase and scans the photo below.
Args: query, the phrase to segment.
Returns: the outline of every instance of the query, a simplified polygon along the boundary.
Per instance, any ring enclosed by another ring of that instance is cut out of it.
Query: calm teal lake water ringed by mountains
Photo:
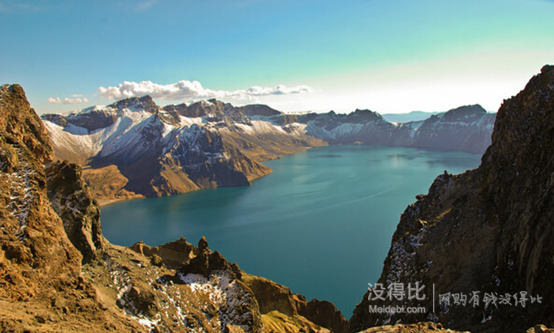
[[[437,175],[480,156],[379,146],[327,146],[265,164],[250,187],[219,188],[102,208],[114,244],[183,236],[246,272],[333,302],[346,318],[377,281],[400,215]]]

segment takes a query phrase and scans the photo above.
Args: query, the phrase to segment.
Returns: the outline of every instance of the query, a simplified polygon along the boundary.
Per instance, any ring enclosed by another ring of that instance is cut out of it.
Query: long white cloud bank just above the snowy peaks
[[[108,99],[122,99],[150,95],[152,98],[164,100],[208,99],[208,98],[234,98],[250,99],[258,96],[289,95],[310,93],[312,88],[308,86],[296,86],[288,88],[278,85],[273,88],[253,86],[248,89],[235,91],[212,90],[202,86],[198,81],[182,80],[172,84],[158,84],[152,81],[129,82],[125,81],[116,87],[98,87],[100,96]]]

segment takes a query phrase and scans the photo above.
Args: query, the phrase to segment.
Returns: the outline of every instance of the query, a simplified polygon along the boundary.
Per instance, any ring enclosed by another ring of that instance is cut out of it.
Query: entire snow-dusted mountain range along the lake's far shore
[[[247,185],[260,162],[325,144],[376,144],[482,153],[494,114],[461,107],[396,124],[369,110],[286,114],[216,100],[159,107],[144,96],[42,117],[55,156],[86,166],[101,199],[163,196]]]

